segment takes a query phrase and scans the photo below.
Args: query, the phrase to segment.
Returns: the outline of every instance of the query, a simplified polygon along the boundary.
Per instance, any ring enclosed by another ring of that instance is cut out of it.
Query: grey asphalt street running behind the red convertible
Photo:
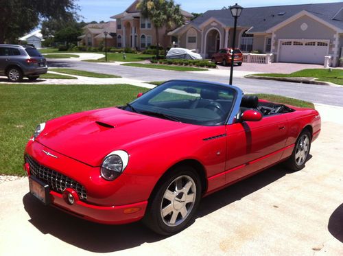
[[[121,75],[123,78],[132,78],[144,82],[165,81],[171,79],[193,79],[223,82],[228,84],[228,77],[203,73],[165,71],[159,69],[142,69],[137,67],[97,64],[94,62],[80,62],[71,60],[49,61],[49,67],[67,67],[97,73]],[[233,84],[239,86],[246,93],[270,93],[294,97],[299,100],[343,106],[343,87],[323,86],[316,84],[299,84],[270,80],[255,80],[235,78]]]

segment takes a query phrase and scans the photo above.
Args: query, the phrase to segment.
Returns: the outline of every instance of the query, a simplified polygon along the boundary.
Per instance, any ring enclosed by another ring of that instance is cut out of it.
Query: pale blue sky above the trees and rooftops
[[[126,10],[134,0],[77,0],[81,10],[79,14],[86,22],[110,21],[110,16]],[[236,2],[242,7],[258,7],[271,5],[292,5],[304,3],[334,3],[339,0],[175,0],[187,12],[206,12],[206,10],[220,10],[224,6],[234,5]],[[210,4],[209,4],[210,3]]]

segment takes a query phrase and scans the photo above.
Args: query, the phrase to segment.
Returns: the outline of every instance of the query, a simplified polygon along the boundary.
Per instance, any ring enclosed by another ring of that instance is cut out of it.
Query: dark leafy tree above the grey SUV
[[[75,15],[75,0],[0,0],[0,43],[16,43],[19,36],[43,19],[64,19]]]

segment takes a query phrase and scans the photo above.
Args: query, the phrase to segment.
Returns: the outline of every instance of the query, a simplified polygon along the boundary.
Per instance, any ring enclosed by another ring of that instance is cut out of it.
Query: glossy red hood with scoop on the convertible
[[[141,146],[140,142],[148,143],[149,139],[198,128],[119,108],[106,108],[47,121],[45,130],[36,140],[60,154],[99,166],[104,156],[114,150],[126,150],[133,145]]]

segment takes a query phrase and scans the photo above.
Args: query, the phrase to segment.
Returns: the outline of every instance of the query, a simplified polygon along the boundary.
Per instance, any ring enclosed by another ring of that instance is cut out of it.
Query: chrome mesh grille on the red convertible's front
[[[40,165],[31,156],[25,155],[25,162],[29,163],[31,175],[47,183],[51,190],[62,193],[64,189],[71,187],[78,193],[80,200],[87,199],[86,189],[80,183],[48,167]]]

